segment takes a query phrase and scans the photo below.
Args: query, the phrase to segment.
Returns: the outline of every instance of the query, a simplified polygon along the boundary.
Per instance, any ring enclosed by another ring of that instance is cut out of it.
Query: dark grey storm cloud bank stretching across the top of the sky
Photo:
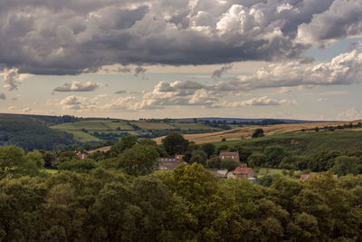
[[[362,4],[359,0],[4,0],[0,23],[1,66],[18,73],[77,74],[114,63],[302,58],[312,45],[360,34]]]

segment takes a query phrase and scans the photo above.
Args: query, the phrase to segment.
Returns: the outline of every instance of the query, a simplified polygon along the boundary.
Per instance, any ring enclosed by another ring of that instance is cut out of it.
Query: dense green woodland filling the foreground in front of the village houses
[[[205,169],[211,160],[217,161],[218,149],[212,144],[197,146],[177,133],[161,145],[123,136],[110,151],[91,153],[85,160],[79,160],[74,150],[28,152],[2,146],[0,240],[358,241],[362,237],[362,175],[342,174],[335,179],[323,172],[305,181],[270,176],[259,184],[218,179]],[[159,156],[175,153],[189,154],[191,165],[157,170]],[[205,161],[199,160],[203,156]],[[55,174],[43,169],[54,165]]]

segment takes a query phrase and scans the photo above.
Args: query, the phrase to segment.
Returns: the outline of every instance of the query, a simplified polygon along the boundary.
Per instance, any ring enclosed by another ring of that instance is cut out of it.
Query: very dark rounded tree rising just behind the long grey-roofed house
[[[167,135],[165,139],[162,140],[162,144],[165,147],[167,153],[171,156],[176,154],[184,154],[187,150],[188,140],[184,138],[178,132],[173,132]]]

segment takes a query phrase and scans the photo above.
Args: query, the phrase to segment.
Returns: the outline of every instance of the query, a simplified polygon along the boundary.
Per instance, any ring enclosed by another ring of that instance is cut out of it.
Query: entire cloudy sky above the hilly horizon
[[[360,0],[3,0],[0,112],[362,119]]]

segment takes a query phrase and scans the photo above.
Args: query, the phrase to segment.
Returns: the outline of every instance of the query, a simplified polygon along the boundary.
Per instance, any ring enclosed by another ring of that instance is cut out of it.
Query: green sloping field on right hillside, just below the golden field
[[[282,146],[286,151],[310,156],[322,150],[343,152],[362,150],[362,131],[319,131],[283,133],[248,140],[215,142],[216,146],[241,145],[251,150],[264,150],[268,146]]]

